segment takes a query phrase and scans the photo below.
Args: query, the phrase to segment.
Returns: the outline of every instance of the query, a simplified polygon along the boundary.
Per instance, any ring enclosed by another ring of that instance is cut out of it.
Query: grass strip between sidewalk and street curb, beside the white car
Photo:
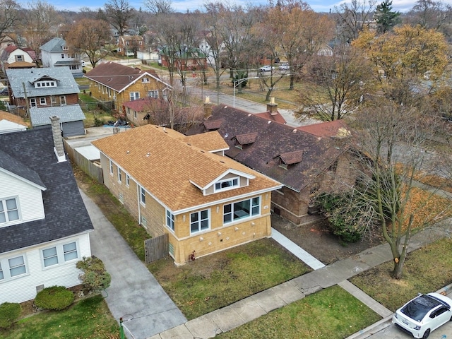
[[[222,333],[218,338],[342,339],[380,319],[381,316],[336,285]]]

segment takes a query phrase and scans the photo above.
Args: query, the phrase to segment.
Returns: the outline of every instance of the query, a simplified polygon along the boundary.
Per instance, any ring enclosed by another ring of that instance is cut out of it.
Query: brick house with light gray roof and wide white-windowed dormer
[[[10,104],[23,112],[27,107],[78,104],[80,90],[69,69],[7,69],[6,76],[11,93]]]

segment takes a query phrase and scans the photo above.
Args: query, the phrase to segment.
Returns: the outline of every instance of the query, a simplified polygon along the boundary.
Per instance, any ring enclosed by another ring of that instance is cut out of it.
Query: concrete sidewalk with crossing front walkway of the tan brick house
[[[451,232],[450,224],[451,220],[444,220],[429,230],[424,230],[423,232],[413,235],[409,251],[419,249],[425,244],[443,238],[445,234]],[[272,230],[272,232],[273,231],[275,230]],[[294,252],[302,261],[306,261],[311,265],[314,263],[314,266],[321,266],[319,263],[316,263],[315,258],[299,247],[297,248],[297,245],[285,238],[282,234],[279,234],[279,232],[275,232],[275,237],[280,244]],[[371,333],[375,333],[374,331],[379,328],[378,326],[388,326],[388,319],[391,319],[390,317],[393,312],[366,295],[355,285],[352,285],[347,279],[391,259],[392,255],[389,250],[389,245],[381,244],[366,251],[362,251],[352,258],[347,258],[332,263],[331,265],[320,267],[311,273],[307,273],[281,285],[259,292],[256,295],[242,299],[239,302],[235,302],[222,309],[212,311],[199,318],[187,321],[182,325],[153,335],[150,339],[213,338],[219,333],[230,331],[232,328],[236,328],[244,323],[257,319],[274,309],[284,307],[287,304],[304,298],[306,295],[310,295],[333,285],[340,285],[383,318],[383,320],[376,323],[375,326],[371,326],[358,333],[359,338],[367,338]]]

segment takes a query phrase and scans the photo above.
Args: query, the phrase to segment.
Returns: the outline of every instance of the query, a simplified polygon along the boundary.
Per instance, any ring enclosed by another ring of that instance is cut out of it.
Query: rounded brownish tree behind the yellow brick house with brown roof
[[[70,49],[88,55],[91,65],[95,67],[97,62],[109,54],[109,50],[105,48],[109,37],[108,23],[104,20],[82,19],[72,26],[66,42]]]

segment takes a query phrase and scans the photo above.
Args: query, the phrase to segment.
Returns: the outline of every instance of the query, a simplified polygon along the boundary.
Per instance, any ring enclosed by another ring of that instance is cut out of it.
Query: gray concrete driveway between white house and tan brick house
[[[186,319],[95,203],[81,191],[94,225],[91,252],[102,259],[112,283],[105,301],[128,338],[145,339],[179,326]]]

